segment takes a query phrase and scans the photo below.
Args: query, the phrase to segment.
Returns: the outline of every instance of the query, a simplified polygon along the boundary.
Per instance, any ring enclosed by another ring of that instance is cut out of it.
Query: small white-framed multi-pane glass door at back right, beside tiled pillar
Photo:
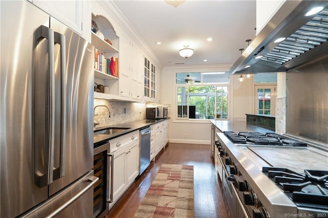
[[[256,114],[275,115],[276,90],[275,85],[255,86]]]

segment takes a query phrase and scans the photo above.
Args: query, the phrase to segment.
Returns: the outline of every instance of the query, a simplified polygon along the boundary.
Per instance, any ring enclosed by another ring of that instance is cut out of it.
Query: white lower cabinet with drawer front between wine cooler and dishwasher
[[[111,208],[139,175],[139,130],[109,142],[110,153],[114,156]]]

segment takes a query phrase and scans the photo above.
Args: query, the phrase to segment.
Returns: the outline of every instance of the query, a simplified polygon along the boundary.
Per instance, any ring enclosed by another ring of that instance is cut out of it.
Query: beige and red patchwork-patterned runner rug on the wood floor
[[[194,217],[194,166],[162,164],[134,217]]]

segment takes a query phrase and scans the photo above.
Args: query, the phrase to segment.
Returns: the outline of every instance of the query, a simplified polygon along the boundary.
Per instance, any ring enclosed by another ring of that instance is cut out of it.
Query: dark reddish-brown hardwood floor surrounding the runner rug
[[[156,156],[156,161],[136,178],[107,217],[133,217],[163,163],[194,166],[195,217],[228,217],[213,162],[209,145],[169,143],[165,151]]]

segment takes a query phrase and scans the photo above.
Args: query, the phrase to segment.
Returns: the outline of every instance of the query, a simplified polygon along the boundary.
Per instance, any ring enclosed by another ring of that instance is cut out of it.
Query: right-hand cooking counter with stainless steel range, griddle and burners
[[[215,168],[232,217],[328,215],[327,150],[247,122],[211,123]]]

